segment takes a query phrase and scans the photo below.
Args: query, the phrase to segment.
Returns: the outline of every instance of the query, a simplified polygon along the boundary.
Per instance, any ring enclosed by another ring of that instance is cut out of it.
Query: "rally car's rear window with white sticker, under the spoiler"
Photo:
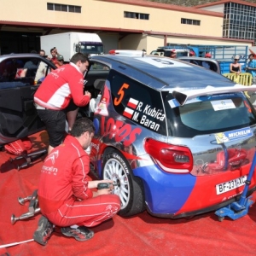
[[[175,137],[230,131],[256,124],[255,112],[243,96],[221,96],[177,108],[166,104],[168,133]]]

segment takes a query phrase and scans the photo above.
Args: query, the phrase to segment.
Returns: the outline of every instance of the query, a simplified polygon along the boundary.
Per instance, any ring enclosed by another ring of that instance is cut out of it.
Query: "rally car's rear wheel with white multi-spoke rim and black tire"
[[[145,210],[143,182],[132,175],[131,166],[118,150],[111,148],[105,154],[102,178],[117,183],[113,194],[119,195],[121,201],[120,216],[129,217]]]

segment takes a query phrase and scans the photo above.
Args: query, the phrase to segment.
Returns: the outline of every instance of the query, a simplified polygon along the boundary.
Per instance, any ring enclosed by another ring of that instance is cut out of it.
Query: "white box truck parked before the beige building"
[[[77,52],[87,55],[104,53],[102,39],[96,33],[65,32],[46,35],[40,37],[40,43],[46,55],[49,55],[50,49],[56,47],[64,61],[69,61]]]

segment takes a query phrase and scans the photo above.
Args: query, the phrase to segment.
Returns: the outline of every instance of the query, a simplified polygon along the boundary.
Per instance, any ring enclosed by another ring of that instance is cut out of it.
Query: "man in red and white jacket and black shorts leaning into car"
[[[49,135],[48,154],[59,146],[65,137],[66,113],[73,111],[68,105],[73,99],[74,108],[90,102],[90,92],[84,94],[84,73],[89,59],[81,53],[73,55],[69,64],[63,65],[44,79],[34,96],[38,116],[43,120]]]

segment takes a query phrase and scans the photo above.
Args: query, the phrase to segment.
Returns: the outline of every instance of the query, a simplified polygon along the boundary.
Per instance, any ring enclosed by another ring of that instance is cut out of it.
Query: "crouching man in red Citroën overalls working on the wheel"
[[[90,145],[94,132],[90,119],[76,120],[64,143],[54,148],[44,160],[38,187],[43,216],[33,235],[42,245],[47,243],[55,225],[61,227],[64,236],[86,241],[94,235],[86,227],[101,224],[120,209],[119,196],[111,194],[112,184],[109,189],[96,190],[98,183],[112,181],[90,181],[87,176],[90,159],[84,149]]]

